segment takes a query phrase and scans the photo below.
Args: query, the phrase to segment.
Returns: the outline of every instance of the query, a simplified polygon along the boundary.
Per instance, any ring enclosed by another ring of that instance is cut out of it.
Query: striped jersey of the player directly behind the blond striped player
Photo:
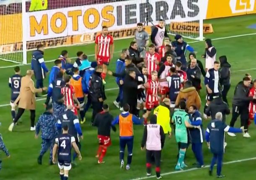
[[[151,75],[152,71],[158,71],[158,64],[161,61],[161,57],[159,53],[150,54],[149,52],[146,53],[146,64],[148,68],[148,74]]]

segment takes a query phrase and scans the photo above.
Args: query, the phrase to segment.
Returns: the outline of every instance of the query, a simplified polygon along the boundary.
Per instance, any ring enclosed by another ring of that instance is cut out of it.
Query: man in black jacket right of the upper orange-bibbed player
[[[91,122],[94,121],[96,114],[102,111],[103,101],[106,99],[101,77],[102,71],[102,66],[97,66],[95,72],[90,77],[89,98],[91,99],[93,109]]]

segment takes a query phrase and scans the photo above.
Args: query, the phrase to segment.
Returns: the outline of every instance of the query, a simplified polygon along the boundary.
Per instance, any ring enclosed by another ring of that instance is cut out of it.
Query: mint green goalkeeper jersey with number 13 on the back
[[[172,116],[172,121],[175,122],[175,132],[187,132],[185,121],[189,121],[188,113],[182,109],[178,109]]]

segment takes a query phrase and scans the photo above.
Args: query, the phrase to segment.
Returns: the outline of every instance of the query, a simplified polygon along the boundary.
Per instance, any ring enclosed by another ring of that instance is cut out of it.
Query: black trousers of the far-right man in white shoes
[[[238,116],[240,115],[241,127],[248,129],[249,111],[248,106],[236,106],[232,104],[232,119],[230,122],[230,127],[234,127]]]

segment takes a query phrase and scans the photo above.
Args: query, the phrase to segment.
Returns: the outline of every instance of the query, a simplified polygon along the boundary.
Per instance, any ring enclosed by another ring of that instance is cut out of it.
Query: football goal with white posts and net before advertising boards
[[[170,34],[202,39],[204,0],[3,0],[0,1],[0,59],[29,63],[45,48],[94,42],[102,26],[114,38],[133,38],[137,23],[166,21]],[[206,8],[205,8],[206,9]]]

